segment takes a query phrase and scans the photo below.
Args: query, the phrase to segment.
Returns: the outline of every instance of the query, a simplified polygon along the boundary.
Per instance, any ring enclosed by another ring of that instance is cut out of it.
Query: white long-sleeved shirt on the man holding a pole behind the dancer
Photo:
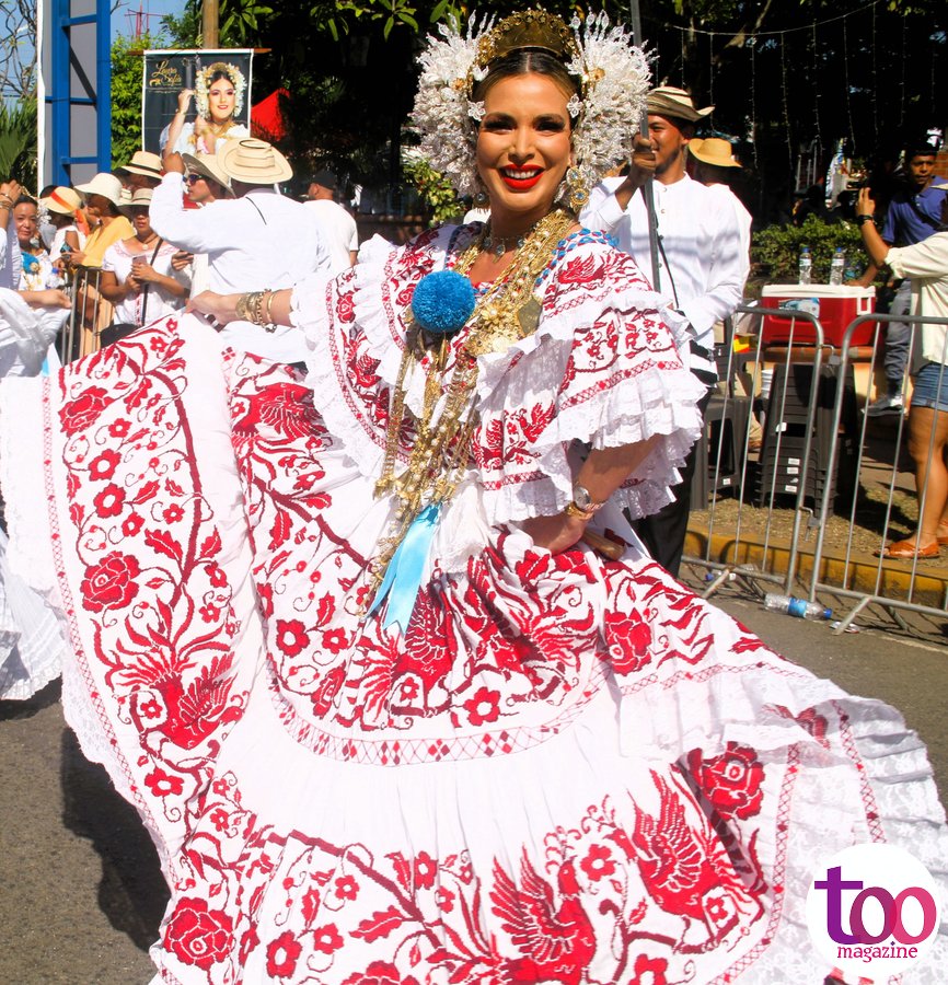
[[[623,209],[614,192],[623,178],[605,178],[592,189],[580,221],[611,233],[651,278],[648,219],[640,192]],[[691,324],[695,343],[714,349],[714,324],[740,304],[750,270],[737,212],[725,196],[687,175],[670,185],[654,182],[658,220],[661,293],[672,299]],[[662,255],[663,253],[663,255]]]

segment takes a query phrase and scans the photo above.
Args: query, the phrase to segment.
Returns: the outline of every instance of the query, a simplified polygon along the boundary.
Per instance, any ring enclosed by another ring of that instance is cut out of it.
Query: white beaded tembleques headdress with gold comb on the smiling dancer
[[[573,118],[576,167],[591,187],[628,153],[628,142],[641,119],[649,84],[648,60],[633,47],[621,26],[611,27],[604,13],[570,25],[542,10],[528,10],[498,24],[485,21],[478,31],[472,19],[466,34],[459,24],[440,25],[429,35],[419,61],[421,76],[412,123],[420,150],[431,167],[461,195],[477,190],[475,144],[483,102],[474,89],[492,62],[522,48],[541,48],[559,58],[579,88],[568,105]]]

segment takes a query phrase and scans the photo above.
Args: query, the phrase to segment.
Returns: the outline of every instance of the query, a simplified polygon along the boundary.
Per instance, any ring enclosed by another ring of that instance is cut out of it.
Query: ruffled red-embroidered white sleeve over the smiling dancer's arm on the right
[[[537,331],[483,360],[475,459],[492,523],[564,509],[577,444],[660,436],[613,500],[633,518],[671,501],[704,394],[678,355],[678,321],[629,257],[602,236],[574,241],[544,286]]]

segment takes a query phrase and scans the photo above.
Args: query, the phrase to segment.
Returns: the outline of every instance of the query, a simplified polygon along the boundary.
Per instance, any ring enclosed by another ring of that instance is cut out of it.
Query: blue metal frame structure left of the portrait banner
[[[68,185],[85,176],[74,174],[74,165],[91,173],[112,167],[111,10],[108,0],[46,2],[48,138],[43,181]]]

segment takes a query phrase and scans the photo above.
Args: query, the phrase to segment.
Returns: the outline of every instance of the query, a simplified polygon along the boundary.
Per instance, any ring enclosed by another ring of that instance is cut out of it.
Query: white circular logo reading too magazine
[[[813,876],[807,925],[834,967],[883,982],[935,943],[938,888],[925,866],[894,845],[853,845]]]

